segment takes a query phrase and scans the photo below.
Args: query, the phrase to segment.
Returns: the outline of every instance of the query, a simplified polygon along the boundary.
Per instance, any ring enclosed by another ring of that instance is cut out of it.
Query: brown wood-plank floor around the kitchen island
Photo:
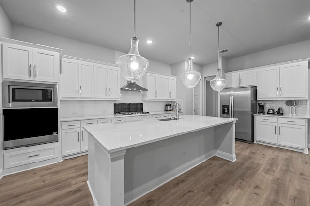
[[[130,206],[310,205],[310,155],[236,142],[236,162],[213,157]],[[1,206],[89,206],[87,156],[0,180]]]

